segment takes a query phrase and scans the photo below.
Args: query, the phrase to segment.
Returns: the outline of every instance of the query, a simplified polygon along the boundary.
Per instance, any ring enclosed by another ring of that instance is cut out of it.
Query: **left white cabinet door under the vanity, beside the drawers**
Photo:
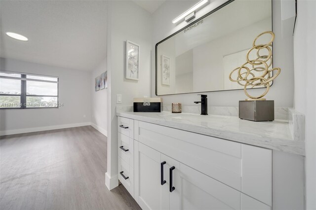
[[[167,184],[161,185],[161,153],[138,141],[134,141],[135,191],[134,198],[143,210],[169,209]],[[167,167],[163,165],[164,180]]]

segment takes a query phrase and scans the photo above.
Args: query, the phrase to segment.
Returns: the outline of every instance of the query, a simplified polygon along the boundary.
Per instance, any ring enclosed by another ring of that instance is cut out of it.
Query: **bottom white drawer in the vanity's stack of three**
[[[134,198],[134,169],[118,157],[118,180]]]

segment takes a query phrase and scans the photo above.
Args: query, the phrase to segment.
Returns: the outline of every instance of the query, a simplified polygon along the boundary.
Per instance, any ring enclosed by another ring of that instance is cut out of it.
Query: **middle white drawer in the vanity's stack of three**
[[[118,157],[134,168],[134,140],[118,133]]]

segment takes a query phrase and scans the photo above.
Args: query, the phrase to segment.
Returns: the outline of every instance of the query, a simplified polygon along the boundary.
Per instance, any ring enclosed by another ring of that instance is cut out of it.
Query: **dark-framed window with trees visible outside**
[[[0,109],[58,106],[58,77],[0,71]]]

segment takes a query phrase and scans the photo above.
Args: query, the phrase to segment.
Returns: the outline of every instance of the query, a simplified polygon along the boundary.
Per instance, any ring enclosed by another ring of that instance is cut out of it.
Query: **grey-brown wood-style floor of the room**
[[[1,137],[0,210],[140,209],[105,186],[107,139],[91,126]]]

